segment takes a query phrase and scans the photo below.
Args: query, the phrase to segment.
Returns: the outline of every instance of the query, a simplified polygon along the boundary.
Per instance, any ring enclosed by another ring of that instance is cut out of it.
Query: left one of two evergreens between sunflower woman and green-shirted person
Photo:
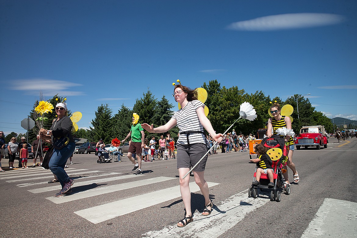
[[[88,140],[95,142],[103,139],[104,143],[109,144],[113,139],[111,128],[114,125],[114,120],[111,117],[112,110],[108,104],[101,104],[95,112],[95,118],[91,121],[93,127],[90,127],[88,132]]]

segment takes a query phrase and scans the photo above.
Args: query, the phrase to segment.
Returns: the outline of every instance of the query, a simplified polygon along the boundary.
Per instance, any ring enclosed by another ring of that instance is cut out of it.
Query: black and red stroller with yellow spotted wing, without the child
[[[271,138],[264,138],[261,142],[267,148],[270,148],[267,151],[267,154],[272,159],[272,168],[273,172],[273,187],[268,187],[269,177],[267,174],[261,174],[260,176],[260,184],[257,186],[252,186],[249,188],[248,197],[257,198],[258,197],[258,188],[260,191],[263,190],[271,190],[270,191],[270,201],[281,201],[281,192],[285,191],[286,195],[290,194],[290,184],[286,184],[284,187],[283,174],[281,171],[281,164],[283,156],[288,155],[288,148],[285,145],[285,141],[278,135],[272,135]],[[258,169],[258,164],[255,168],[253,182],[256,180],[256,171]]]

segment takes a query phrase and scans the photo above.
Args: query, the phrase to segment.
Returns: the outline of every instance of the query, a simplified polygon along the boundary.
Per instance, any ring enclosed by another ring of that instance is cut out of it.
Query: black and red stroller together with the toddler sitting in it
[[[249,188],[248,197],[257,198],[258,188],[261,191],[270,191],[270,201],[281,201],[281,192],[285,190],[285,194],[290,194],[290,185],[284,187],[282,176],[282,161],[286,159],[288,150],[285,145],[284,139],[280,136],[272,135],[272,138],[264,138],[261,144],[256,145],[255,150],[259,157],[251,159],[250,161],[256,162],[256,169],[253,177],[252,187]],[[268,157],[268,159],[266,158]],[[281,159],[282,158],[282,159]],[[262,168],[265,167],[266,168]],[[270,165],[270,166],[269,166]],[[272,169],[269,170],[271,167]],[[268,169],[265,171],[265,169]],[[265,172],[265,173],[262,173]]]

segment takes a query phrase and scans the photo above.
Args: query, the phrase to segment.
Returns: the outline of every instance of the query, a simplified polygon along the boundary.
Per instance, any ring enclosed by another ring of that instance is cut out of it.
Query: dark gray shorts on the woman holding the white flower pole
[[[193,167],[207,152],[205,144],[177,144],[177,169]],[[206,155],[193,171],[205,171],[208,155]]]

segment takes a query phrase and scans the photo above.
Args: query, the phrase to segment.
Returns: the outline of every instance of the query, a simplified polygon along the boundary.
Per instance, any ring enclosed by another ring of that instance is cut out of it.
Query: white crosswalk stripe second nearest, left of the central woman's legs
[[[135,174],[134,175],[128,175],[128,177],[129,176],[136,176],[136,175]],[[64,202],[75,201],[75,200],[82,199],[82,198],[102,195],[102,194],[105,194],[105,193],[125,190],[125,189],[129,189],[129,188],[133,188],[133,187],[140,187],[140,186],[149,185],[149,184],[152,184],[152,183],[164,182],[164,181],[172,180],[172,179],[176,179],[176,178],[155,177],[155,178],[152,178],[152,179],[138,180],[138,181],[132,181],[132,182],[128,182],[128,183],[121,183],[121,184],[110,185],[110,186],[105,186],[105,187],[98,187],[98,188],[90,189],[90,190],[87,190],[87,191],[74,193],[74,194],[71,194],[69,196],[46,197],[46,199],[48,199],[48,200],[50,200],[50,201],[52,201],[52,202],[54,202],[56,204],[60,204],[60,203],[64,203]],[[142,201],[144,201],[144,200],[141,200],[141,202]]]

